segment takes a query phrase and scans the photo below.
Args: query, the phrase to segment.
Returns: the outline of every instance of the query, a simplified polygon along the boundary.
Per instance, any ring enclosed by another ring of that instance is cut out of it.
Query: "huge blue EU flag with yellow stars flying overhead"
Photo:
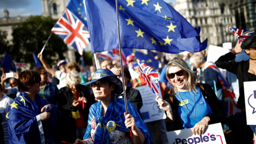
[[[85,0],[92,53],[118,48],[115,0]],[[200,28],[193,28],[162,0],[118,1],[121,47],[166,53],[199,52]]]

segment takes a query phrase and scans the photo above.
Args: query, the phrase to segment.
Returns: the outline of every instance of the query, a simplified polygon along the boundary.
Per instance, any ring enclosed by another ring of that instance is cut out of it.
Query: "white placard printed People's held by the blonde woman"
[[[211,124],[202,135],[194,135],[192,129],[166,132],[169,144],[226,144],[221,123]]]

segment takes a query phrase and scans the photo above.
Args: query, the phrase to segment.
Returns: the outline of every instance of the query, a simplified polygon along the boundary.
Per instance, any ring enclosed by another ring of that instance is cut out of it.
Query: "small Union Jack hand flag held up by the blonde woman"
[[[156,70],[138,61],[140,72],[153,93],[159,93],[159,75]]]

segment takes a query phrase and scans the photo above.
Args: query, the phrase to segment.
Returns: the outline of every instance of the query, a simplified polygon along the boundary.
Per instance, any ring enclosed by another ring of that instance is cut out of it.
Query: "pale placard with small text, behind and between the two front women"
[[[143,106],[140,109],[140,113],[143,117],[144,123],[157,121],[159,119],[166,118],[164,110],[159,109],[156,102],[156,94],[153,93],[147,85],[135,87],[140,91]],[[157,94],[162,98],[162,94]]]

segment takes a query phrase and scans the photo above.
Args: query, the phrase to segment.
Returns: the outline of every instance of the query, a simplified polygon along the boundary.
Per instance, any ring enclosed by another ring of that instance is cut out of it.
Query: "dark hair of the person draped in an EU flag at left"
[[[40,83],[41,77],[35,70],[25,70],[19,74],[17,82],[18,90],[20,92],[27,92],[27,85],[33,85],[34,83]]]

